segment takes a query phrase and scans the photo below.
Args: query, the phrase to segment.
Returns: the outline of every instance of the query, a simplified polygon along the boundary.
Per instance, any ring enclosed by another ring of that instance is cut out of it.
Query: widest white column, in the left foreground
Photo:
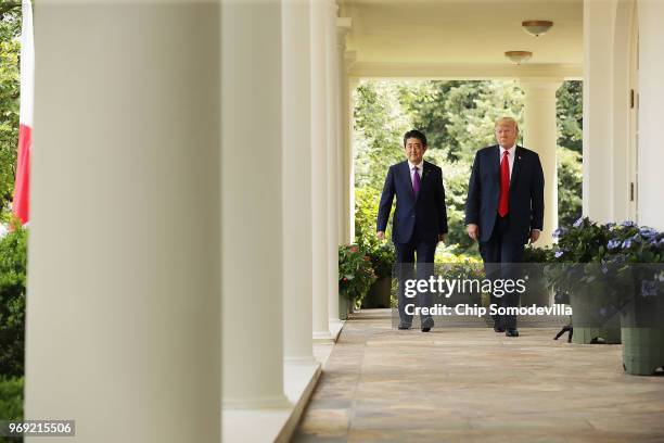
[[[219,442],[219,8],[35,12],[25,418]]]

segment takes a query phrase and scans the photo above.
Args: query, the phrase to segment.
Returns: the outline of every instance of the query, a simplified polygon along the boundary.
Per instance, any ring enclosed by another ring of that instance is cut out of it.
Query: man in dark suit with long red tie
[[[480,241],[487,278],[514,278],[523,262],[524,245],[537,241],[544,219],[544,173],[537,153],[516,145],[519,126],[513,118],[496,122],[498,144],[475,154],[468,186],[465,225]],[[518,306],[519,293],[491,294],[498,306]],[[494,317],[494,330],[519,337],[516,317]]]

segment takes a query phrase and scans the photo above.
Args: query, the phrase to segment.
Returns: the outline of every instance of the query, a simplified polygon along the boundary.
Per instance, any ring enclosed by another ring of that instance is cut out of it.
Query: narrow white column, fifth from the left
[[[339,117],[340,69],[336,43],[335,0],[328,0],[325,28],[328,60],[328,315],[330,322],[339,322]]]

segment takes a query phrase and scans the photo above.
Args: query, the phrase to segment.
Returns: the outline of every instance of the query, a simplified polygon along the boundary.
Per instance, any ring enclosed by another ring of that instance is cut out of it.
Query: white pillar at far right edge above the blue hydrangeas
[[[639,15],[639,224],[664,229],[662,205],[662,102],[664,102],[664,59],[662,41],[664,3],[640,0]]]

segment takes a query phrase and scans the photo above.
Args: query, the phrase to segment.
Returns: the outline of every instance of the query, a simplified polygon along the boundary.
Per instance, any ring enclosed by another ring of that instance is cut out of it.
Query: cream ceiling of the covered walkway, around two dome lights
[[[341,15],[358,63],[507,65],[510,50],[532,51],[528,64],[583,63],[583,0],[345,0]],[[554,24],[533,37],[525,20]]]

